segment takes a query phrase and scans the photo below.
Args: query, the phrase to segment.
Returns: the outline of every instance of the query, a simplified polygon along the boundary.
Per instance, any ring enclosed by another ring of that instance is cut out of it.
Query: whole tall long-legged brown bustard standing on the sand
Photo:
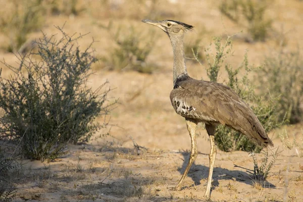
[[[185,118],[191,139],[189,162],[175,188],[177,190],[182,188],[183,180],[197,157],[195,130],[197,123],[204,122],[211,141],[210,170],[205,192],[205,196],[210,198],[212,175],[217,154],[214,141],[216,125],[223,124],[237,130],[263,147],[273,146],[274,144],[267,136],[254,112],[232,89],[223,84],[196,80],[188,76],[183,51],[183,37],[187,30],[193,29],[193,26],[174,20],[142,20],[142,22],[162,29],[169,36],[173,46],[174,89],[170,93],[170,99],[176,113]]]

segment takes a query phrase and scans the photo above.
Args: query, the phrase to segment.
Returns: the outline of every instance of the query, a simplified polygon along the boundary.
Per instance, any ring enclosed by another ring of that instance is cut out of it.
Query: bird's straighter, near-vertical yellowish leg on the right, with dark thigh
[[[210,136],[211,140],[211,151],[210,151],[210,171],[209,171],[209,178],[208,178],[208,183],[206,187],[206,192],[205,192],[205,197],[210,198],[211,197],[211,186],[212,186],[212,177],[213,177],[213,171],[214,171],[214,164],[216,160],[216,155],[217,155],[217,149],[215,145],[215,126],[212,125],[206,125],[207,132]]]

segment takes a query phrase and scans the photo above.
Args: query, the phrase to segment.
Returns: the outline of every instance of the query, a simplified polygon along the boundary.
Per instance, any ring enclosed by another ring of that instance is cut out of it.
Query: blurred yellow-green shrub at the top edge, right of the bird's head
[[[268,5],[268,1],[224,0],[219,9],[230,20],[246,27],[254,40],[265,41],[272,26],[272,20],[265,17]]]

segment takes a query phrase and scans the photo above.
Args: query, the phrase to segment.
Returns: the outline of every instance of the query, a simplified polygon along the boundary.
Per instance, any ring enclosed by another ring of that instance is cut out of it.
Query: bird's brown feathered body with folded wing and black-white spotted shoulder
[[[262,146],[273,142],[252,110],[229,87],[188,78],[177,82],[170,94],[172,105],[183,117],[221,123],[245,134]]]

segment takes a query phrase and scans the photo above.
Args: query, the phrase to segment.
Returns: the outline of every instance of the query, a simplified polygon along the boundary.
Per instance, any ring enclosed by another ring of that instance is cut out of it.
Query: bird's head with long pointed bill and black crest
[[[174,21],[174,20],[142,20],[147,24],[155,25],[161,28],[165,33],[167,33],[170,37],[172,35],[183,35],[187,30],[193,30],[193,26],[185,24],[183,22]]]

